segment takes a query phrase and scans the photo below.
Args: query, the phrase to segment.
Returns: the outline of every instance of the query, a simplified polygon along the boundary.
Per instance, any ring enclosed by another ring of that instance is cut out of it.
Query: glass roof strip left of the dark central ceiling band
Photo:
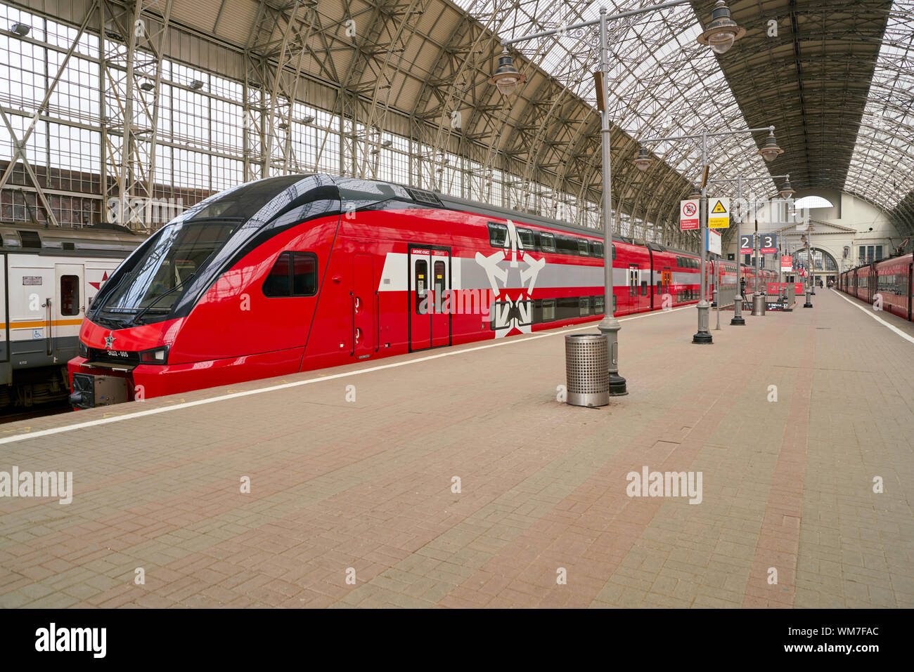
[[[520,0],[510,6],[505,6],[504,0],[455,2],[503,39],[598,18],[601,5],[613,14],[657,4],[657,0]],[[616,126],[633,138],[645,140],[749,128],[717,58],[708,47],[696,42],[700,33],[701,26],[690,4],[611,22],[610,79],[614,84],[610,91],[610,119]],[[596,107],[593,72],[599,68],[598,47],[599,27],[592,26],[564,36],[521,42],[511,49]],[[687,179],[698,178],[700,155],[696,146],[683,141],[646,146]],[[756,152],[758,146],[749,133],[718,139],[709,152],[711,178],[734,178],[739,172],[747,177],[769,174]],[[773,182],[758,181],[753,188],[759,197],[775,195]],[[729,190],[729,186],[721,185],[718,191]]]

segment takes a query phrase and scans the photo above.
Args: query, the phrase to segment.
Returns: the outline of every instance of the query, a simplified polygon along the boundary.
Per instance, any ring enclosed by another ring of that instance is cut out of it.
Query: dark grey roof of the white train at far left
[[[59,256],[126,257],[145,236],[124,226],[82,228],[0,222],[0,250]]]

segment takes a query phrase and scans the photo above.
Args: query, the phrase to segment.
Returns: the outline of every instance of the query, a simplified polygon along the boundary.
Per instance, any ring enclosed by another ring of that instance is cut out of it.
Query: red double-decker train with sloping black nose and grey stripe
[[[694,253],[614,238],[616,315],[695,303]],[[242,184],[138,247],[92,301],[74,407],[597,320],[591,229],[324,174]],[[750,272],[744,267],[744,275]],[[723,300],[734,262],[708,265]],[[762,285],[763,286],[763,285]]]

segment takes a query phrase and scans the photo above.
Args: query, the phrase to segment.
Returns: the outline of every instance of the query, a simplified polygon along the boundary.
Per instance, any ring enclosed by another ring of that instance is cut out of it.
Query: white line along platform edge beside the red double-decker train
[[[652,312],[645,312],[641,315],[634,315],[632,317],[621,318],[620,322],[626,322],[629,320],[637,320],[639,318],[650,317],[651,315],[661,315],[664,313],[675,312],[677,310],[685,310],[687,308],[695,308],[695,305],[683,306],[681,308],[674,308],[671,310],[654,310]],[[429,360],[437,360],[441,357],[452,357],[453,355],[463,354],[464,352],[474,352],[477,350],[486,350],[488,348],[497,348],[502,345],[512,345],[516,343],[526,343],[526,341],[537,341],[537,339],[544,339],[549,336],[558,336],[563,333],[568,333],[569,331],[580,331],[582,329],[592,329],[593,324],[585,324],[581,327],[573,327],[571,329],[563,329],[561,331],[551,331],[549,333],[541,333],[534,336],[527,336],[523,339],[505,339],[498,343],[486,343],[485,345],[476,345],[472,348],[465,348],[463,350],[454,350],[450,352],[439,352],[437,354],[430,354],[424,357],[419,357],[414,360],[406,360],[404,362],[391,362],[389,364],[381,364],[379,366],[371,366],[367,369],[359,369],[357,371],[347,371],[345,373],[334,373],[333,375],[320,375],[317,378],[308,378],[303,381],[295,381],[294,383],[281,383],[279,385],[271,385],[269,387],[260,387],[255,390],[246,390],[244,392],[233,392],[231,394],[220,394],[219,396],[210,397],[208,399],[198,399],[195,402],[184,402],[183,404],[174,404],[171,406],[161,406],[159,408],[150,408],[148,411],[135,411],[133,413],[125,413],[124,415],[114,415],[113,417],[105,417],[99,420],[88,420],[84,423],[75,423],[74,425],[63,425],[60,427],[51,427],[50,429],[42,429],[37,432],[30,432],[27,434],[18,434],[16,436],[5,436],[0,438],[0,445],[2,444],[11,444],[16,441],[25,441],[28,438],[37,438],[38,436],[51,436],[54,434],[62,434],[64,432],[71,432],[76,429],[85,429],[86,427],[95,427],[98,425],[108,425],[110,423],[121,422],[122,420],[132,420],[133,418],[143,417],[144,415],[156,415],[159,413],[167,413],[169,411],[176,411],[179,408],[190,408],[192,406],[202,406],[203,404],[214,404],[216,402],[227,401],[228,399],[238,399],[242,396],[249,396],[250,394],[262,394],[264,392],[276,392],[277,390],[285,390],[291,387],[299,387],[301,385],[308,385],[311,383],[323,383],[324,381],[332,381],[337,378],[346,378],[348,376],[360,375],[362,373],[371,373],[373,371],[381,371],[383,369],[394,369],[399,366],[406,366],[407,364],[416,364],[419,362],[428,362]],[[249,381],[249,383],[252,381]]]

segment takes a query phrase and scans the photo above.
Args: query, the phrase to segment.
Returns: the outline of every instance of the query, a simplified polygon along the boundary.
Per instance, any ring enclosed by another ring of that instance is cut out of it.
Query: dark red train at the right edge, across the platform
[[[912,320],[914,253],[847,270],[838,276],[838,289],[867,303],[876,303],[878,295],[882,310]]]

